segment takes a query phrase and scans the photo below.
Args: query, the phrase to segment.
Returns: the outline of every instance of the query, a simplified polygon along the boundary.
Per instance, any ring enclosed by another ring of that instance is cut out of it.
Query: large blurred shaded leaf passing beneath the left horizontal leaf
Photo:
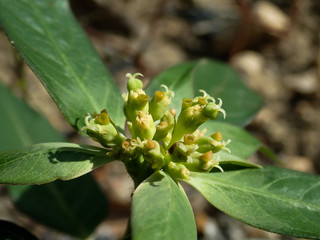
[[[29,146],[42,141],[63,141],[45,118],[0,85],[0,149]],[[1,162],[1,160],[0,160]],[[9,195],[19,210],[39,223],[84,237],[106,217],[104,194],[90,174],[70,181],[44,185],[8,185]],[[94,204],[92,204],[94,202]],[[0,224],[1,225],[1,224]],[[6,229],[10,227],[4,226]],[[19,231],[13,229],[13,234]],[[1,229],[0,233],[4,234]],[[11,239],[19,239],[13,235]],[[3,235],[0,234],[0,239]],[[27,239],[27,238],[25,238]]]

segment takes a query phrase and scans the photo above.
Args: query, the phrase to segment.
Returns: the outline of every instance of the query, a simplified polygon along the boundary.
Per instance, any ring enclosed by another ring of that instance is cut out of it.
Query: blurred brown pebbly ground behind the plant
[[[285,167],[320,173],[319,0],[70,0],[70,5],[122,91],[127,72],[143,73],[147,84],[183,61],[208,57],[229,63],[265,102],[247,130]],[[71,129],[2,31],[0,81],[70,141],[92,144]],[[259,154],[252,160],[274,164]],[[110,203],[109,217],[95,238],[119,239],[133,185],[120,163],[96,170],[94,177]],[[186,190],[199,239],[293,239],[242,224]],[[19,223],[41,239],[71,239],[19,213],[4,186],[0,202],[1,219]]]

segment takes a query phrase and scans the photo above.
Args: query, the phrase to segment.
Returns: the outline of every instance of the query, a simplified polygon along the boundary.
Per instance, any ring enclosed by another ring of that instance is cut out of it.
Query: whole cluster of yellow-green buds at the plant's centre
[[[174,92],[161,85],[164,91],[156,91],[153,98],[142,89],[140,73],[127,74],[128,93],[123,94],[123,111],[131,137],[125,137],[103,110],[89,115],[83,130],[103,146],[117,153],[129,173],[141,174],[141,169],[152,171],[163,169],[174,179],[189,179],[190,172],[209,172],[219,166],[221,150],[230,140],[223,141],[220,132],[205,136],[205,130],[198,127],[207,120],[216,119],[221,113],[222,100],[216,100],[205,91],[203,96],[182,100],[181,112],[176,118],[175,109],[169,109]],[[140,169],[140,170],[139,170]]]

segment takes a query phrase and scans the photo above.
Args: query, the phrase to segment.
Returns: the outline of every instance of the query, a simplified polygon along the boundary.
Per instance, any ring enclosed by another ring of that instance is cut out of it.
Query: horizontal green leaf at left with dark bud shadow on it
[[[42,143],[0,152],[0,183],[42,184],[79,177],[113,159],[102,148]]]

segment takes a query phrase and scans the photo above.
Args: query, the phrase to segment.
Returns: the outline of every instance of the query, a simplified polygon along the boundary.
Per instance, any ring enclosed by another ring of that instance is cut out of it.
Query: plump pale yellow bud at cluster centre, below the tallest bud
[[[152,139],[156,133],[156,126],[154,125],[151,114],[141,111],[132,123],[132,129],[135,136],[140,139]]]

